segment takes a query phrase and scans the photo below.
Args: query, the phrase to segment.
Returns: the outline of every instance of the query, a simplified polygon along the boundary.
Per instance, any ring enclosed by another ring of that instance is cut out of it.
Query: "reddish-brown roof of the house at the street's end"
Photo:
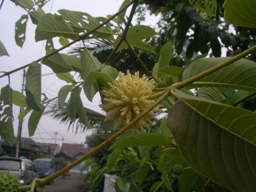
[[[86,154],[90,151],[89,148],[84,148],[83,144],[74,144],[74,143],[63,143],[60,152],[57,154],[63,154],[69,158],[74,158],[77,154],[82,153]]]

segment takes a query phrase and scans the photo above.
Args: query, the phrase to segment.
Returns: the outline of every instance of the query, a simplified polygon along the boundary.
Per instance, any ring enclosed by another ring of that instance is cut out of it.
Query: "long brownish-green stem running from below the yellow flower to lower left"
[[[156,100],[156,102],[149,106],[145,111],[143,111],[140,115],[138,115],[137,117],[135,117],[129,124],[126,124],[121,130],[119,130],[118,132],[116,132],[114,135],[112,135],[111,137],[109,137],[107,140],[105,140],[104,142],[102,142],[100,145],[98,145],[97,147],[93,148],[91,151],[89,151],[88,153],[86,153],[85,155],[83,155],[82,157],[80,157],[79,159],[77,159],[76,161],[72,162],[71,164],[69,164],[68,166],[62,168],[60,171],[57,171],[55,173],[53,173],[52,175],[45,177],[44,179],[40,180],[40,185],[45,185],[47,182],[52,181],[53,179],[59,177],[61,174],[65,173],[66,171],[68,171],[69,169],[73,168],[74,166],[76,166],[77,164],[81,163],[82,161],[84,161],[85,159],[87,159],[88,157],[92,156],[94,153],[98,152],[100,149],[102,149],[103,147],[105,147],[106,145],[108,145],[108,143],[112,142],[113,140],[115,140],[118,136],[120,136],[123,132],[125,132],[127,129],[129,129],[133,124],[135,124],[137,121],[139,121],[143,116],[147,115],[148,112],[150,112],[153,108],[155,108],[159,103],[161,103],[168,95],[170,94],[170,90],[167,89],[164,94],[158,99]],[[28,190],[30,189],[31,185],[26,185],[26,186],[19,186],[17,189],[18,190]],[[36,183],[35,187],[39,187],[39,184]]]

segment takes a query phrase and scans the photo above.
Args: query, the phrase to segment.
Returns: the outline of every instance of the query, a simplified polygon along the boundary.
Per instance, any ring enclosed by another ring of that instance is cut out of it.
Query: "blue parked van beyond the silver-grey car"
[[[33,161],[39,178],[44,178],[55,172],[54,161],[52,159],[36,159]],[[52,181],[53,182],[53,181]]]

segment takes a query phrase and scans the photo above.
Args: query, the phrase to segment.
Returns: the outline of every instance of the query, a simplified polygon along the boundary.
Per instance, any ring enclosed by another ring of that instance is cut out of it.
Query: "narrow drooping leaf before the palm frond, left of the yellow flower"
[[[83,105],[81,97],[80,97],[80,90],[75,89],[72,92],[75,93],[74,103],[75,103],[75,108],[76,108],[77,115],[79,117],[79,121],[82,124],[86,125],[88,128],[91,128],[91,125],[90,125],[89,120],[87,118],[86,112],[84,110],[84,105]]]

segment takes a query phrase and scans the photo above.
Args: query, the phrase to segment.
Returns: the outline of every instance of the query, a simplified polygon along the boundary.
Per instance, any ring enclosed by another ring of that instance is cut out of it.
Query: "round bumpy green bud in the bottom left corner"
[[[17,192],[20,186],[18,179],[10,173],[0,173],[0,191],[1,192]]]

